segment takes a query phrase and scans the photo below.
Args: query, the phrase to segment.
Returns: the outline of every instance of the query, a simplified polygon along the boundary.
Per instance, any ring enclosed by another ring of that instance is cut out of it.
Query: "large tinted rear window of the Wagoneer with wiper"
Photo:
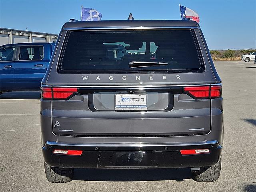
[[[193,30],[69,31],[60,73],[203,72]]]

